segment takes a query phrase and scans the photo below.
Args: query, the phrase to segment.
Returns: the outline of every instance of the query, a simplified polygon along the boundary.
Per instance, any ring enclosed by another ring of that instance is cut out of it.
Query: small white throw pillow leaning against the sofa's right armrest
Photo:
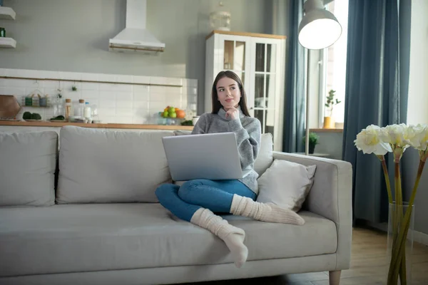
[[[274,160],[258,179],[258,202],[272,202],[299,211],[312,187],[317,165],[300,165],[287,160]]]

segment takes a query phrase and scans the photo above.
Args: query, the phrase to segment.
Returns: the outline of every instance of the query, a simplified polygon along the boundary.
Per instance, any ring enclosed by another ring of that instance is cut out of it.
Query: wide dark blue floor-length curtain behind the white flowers
[[[370,124],[406,123],[410,9],[405,0],[349,0],[342,158],[353,167],[355,222],[387,221],[382,166],[358,151],[354,140]],[[392,157],[386,159],[393,177]]]

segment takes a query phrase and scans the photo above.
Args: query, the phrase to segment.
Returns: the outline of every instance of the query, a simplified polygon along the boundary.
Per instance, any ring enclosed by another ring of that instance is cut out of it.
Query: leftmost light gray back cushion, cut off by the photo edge
[[[53,205],[58,134],[5,132],[0,145],[0,206]]]

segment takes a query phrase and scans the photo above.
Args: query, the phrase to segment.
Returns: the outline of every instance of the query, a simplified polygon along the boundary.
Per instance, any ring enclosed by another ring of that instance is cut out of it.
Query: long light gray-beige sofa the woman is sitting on
[[[220,239],[158,203],[156,185],[170,182],[165,135],[175,133],[0,133],[0,284],[175,284],[315,271],[334,281],[349,268],[348,162],[272,152],[263,135],[260,175],[272,160],[290,160],[317,165],[315,181],[299,212],[303,226],[225,216],[246,232],[248,261],[238,269]]]

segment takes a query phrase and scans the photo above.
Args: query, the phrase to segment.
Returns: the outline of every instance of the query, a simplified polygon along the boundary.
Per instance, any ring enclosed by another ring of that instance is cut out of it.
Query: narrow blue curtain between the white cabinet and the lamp
[[[287,19],[287,66],[285,78],[284,132],[282,150],[303,152],[305,135],[305,49],[297,32],[303,16],[303,0],[290,0]]]

